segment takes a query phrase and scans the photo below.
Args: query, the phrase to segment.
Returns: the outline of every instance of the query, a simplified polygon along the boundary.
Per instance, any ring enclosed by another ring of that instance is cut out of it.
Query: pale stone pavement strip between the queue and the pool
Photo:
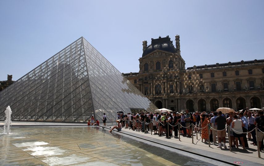
[[[258,158],[258,151],[257,151],[257,146],[253,146],[251,145],[251,141],[248,141],[249,143],[249,148],[247,149],[247,151],[243,151],[242,147],[239,146],[239,150],[235,150],[235,148],[232,148],[232,152],[229,151],[229,148],[224,149],[224,147],[222,149],[217,148],[216,145],[211,144],[211,147],[208,146],[208,143],[205,144],[201,141],[201,137],[200,134],[198,133],[198,140],[196,139],[196,135],[194,133],[194,143],[192,143],[192,138],[188,138],[188,137],[183,137],[180,136],[180,141],[179,139],[176,139],[174,137],[171,138],[166,138],[166,135],[164,136],[158,136],[158,135],[151,135],[151,132],[149,133],[144,133],[144,132],[136,132],[133,131],[132,129],[129,130],[129,128],[122,128],[122,131],[126,134],[129,135],[136,135],[137,137],[149,140],[150,138],[154,138],[157,139],[158,141],[161,140],[161,142],[163,144],[166,144],[166,142],[170,142],[170,143],[174,143],[175,147],[180,147],[179,145],[181,145],[181,148],[184,147],[188,147],[188,149],[195,149],[195,153],[197,152],[197,154],[199,153],[203,153],[202,155],[206,155],[206,156],[213,156],[215,158],[218,158],[219,156],[217,156],[216,154],[221,154],[224,155],[223,158],[221,160],[230,160],[230,162],[232,161],[232,163],[235,164],[239,164],[239,165],[248,165],[249,163],[252,165],[259,165],[259,164],[264,164],[264,153],[263,151],[261,152],[261,157],[262,158]],[[153,132],[154,134],[154,132]],[[226,137],[227,139],[227,143],[226,145],[228,146],[228,137]],[[183,145],[183,146],[182,146]],[[184,150],[184,149],[183,149]],[[203,152],[202,152],[203,151]],[[214,154],[214,155],[212,155]],[[249,162],[247,162],[249,161]]]

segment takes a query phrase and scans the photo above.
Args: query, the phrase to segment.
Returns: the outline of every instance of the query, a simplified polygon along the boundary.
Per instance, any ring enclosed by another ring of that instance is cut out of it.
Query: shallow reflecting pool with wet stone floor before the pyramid
[[[212,165],[90,126],[17,127],[0,139],[0,165]]]

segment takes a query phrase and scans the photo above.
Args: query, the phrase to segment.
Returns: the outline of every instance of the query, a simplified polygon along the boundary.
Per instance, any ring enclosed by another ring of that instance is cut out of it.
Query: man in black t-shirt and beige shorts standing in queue
[[[226,124],[226,118],[222,116],[222,111],[218,112],[218,116],[215,119],[215,124],[217,125],[217,138],[218,138],[218,143],[219,145],[217,146],[217,148],[222,148],[222,140],[224,142],[224,148],[226,149],[226,145],[225,145],[225,124]]]

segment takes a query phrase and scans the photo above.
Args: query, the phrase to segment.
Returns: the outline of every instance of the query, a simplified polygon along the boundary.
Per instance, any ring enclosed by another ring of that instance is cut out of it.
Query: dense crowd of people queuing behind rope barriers
[[[252,112],[245,108],[241,112],[225,114],[221,111],[190,113],[188,109],[180,113],[118,113],[117,122],[118,125],[114,126],[109,132],[115,128],[120,131],[122,127],[125,127],[145,133],[152,131],[154,135],[166,136],[166,138],[174,135],[176,139],[178,133],[188,138],[192,137],[192,133],[201,133],[202,142],[208,143],[208,141],[211,141],[212,144],[217,145],[217,148],[229,147],[226,146],[226,137],[229,133],[231,148],[238,150],[240,144],[243,150],[246,151],[249,148],[249,141],[251,141],[250,144],[255,146],[257,146],[258,141],[260,150],[263,151],[263,110]],[[180,132],[178,132],[178,125],[180,125]],[[257,134],[256,127],[258,128]]]

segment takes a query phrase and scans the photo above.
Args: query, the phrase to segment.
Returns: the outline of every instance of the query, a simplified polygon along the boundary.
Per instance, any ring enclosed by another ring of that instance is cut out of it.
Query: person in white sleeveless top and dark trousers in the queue
[[[246,150],[244,139],[243,139],[243,134],[241,134],[241,132],[243,132],[243,129],[242,129],[243,126],[244,126],[244,123],[242,123],[240,119],[237,119],[237,115],[234,115],[234,120],[232,122],[232,128],[233,128],[233,135],[236,140],[237,150],[238,150],[238,138],[241,140],[243,149]]]

